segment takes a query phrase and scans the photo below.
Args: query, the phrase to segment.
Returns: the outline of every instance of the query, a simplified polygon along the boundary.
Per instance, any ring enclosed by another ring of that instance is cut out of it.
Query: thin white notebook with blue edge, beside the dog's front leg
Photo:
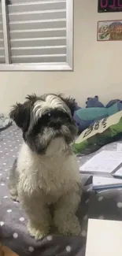
[[[95,191],[120,187],[122,188],[122,180],[106,178],[101,176],[93,176],[92,185]]]

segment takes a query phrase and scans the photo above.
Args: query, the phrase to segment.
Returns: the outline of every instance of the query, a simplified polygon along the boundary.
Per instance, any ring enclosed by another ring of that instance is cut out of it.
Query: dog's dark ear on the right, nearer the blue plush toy
[[[76,103],[76,99],[75,98],[65,98],[64,95],[58,95],[64,102],[65,104],[68,106],[68,108],[70,109],[72,116],[77,108],[77,103]]]

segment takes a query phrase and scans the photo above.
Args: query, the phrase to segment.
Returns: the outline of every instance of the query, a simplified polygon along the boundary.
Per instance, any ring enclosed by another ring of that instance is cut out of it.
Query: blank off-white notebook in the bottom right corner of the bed
[[[89,219],[85,256],[121,256],[122,221]]]

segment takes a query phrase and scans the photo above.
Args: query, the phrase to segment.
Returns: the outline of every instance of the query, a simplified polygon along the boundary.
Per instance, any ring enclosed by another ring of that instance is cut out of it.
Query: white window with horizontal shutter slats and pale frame
[[[0,22],[4,19],[3,31],[0,30],[0,63],[6,61],[8,70],[72,69],[73,0],[10,2],[6,13],[8,20],[4,13],[0,16]]]

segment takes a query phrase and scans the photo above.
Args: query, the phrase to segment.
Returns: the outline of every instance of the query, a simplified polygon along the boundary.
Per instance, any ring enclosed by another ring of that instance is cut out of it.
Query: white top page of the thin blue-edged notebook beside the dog
[[[105,178],[101,176],[93,176],[93,187],[108,187],[114,185],[119,185],[122,184],[122,180],[120,179],[115,179],[115,178]]]

